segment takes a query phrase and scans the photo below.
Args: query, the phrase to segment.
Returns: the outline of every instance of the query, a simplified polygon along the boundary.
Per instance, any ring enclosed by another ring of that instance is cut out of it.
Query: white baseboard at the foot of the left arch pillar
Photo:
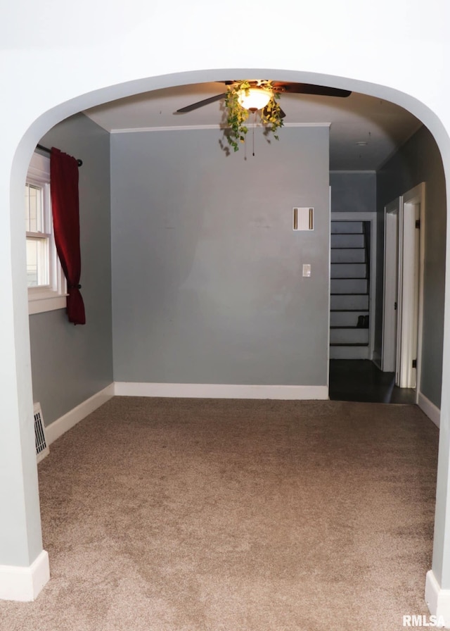
[[[31,566],[0,566],[0,600],[35,600],[49,579],[49,555],[45,550]]]

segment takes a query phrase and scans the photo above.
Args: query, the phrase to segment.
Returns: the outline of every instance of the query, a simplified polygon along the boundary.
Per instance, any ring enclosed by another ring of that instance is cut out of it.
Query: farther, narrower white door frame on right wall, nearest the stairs
[[[399,302],[399,226],[401,197],[385,206],[385,256],[383,273],[383,337],[381,370],[394,373],[397,366],[397,314]]]

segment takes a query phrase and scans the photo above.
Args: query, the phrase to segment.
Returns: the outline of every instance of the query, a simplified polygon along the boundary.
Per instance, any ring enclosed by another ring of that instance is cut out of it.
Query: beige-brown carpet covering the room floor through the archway
[[[1,631],[393,631],[428,614],[416,406],[115,397],[39,465],[51,580]]]

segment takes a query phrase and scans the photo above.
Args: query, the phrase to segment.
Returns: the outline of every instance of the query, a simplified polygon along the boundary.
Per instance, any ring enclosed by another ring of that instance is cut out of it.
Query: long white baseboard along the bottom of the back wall
[[[214,383],[115,382],[117,396],[173,396],[197,399],[328,399],[327,386],[232,385]]]

